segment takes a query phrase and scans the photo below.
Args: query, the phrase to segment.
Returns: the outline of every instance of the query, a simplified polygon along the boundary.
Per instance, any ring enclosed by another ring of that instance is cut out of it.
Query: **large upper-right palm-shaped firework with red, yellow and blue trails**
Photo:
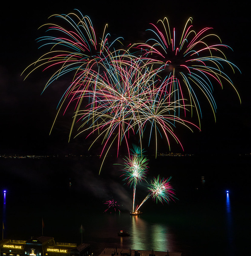
[[[199,32],[192,30],[192,18],[186,22],[180,40],[176,38],[178,33],[175,28],[170,30],[167,18],[159,20],[157,25],[151,25],[153,28],[149,31],[152,32],[152,38],[146,44],[134,44],[132,47],[140,51],[144,49],[144,58],[149,58],[162,70],[159,74],[162,86],[174,99],[188,100],[191,112],[192,106],[195,107],[199,122],[202,112],[197,90],[206,96],[215,114],[213,84],[219,84],[222,88],[223,81],[226,81],[234,88],[223,71],[223,66],[233,72],[237,68],[226,59],[223,52],[228,46],[221,44],[220,38],[211,33],[212,28],[203,28]]]

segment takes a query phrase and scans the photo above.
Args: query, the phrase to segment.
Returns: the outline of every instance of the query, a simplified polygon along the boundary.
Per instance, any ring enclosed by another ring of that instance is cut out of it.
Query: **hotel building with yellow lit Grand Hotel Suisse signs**
[[[55,243],[53,237],[0,241],[0,256],[91,256],[89,244]]]

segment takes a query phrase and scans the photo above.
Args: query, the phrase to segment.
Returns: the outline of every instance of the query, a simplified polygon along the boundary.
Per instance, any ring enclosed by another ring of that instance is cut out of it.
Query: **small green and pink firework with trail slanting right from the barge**
[[[150,193],[146,196],[146,198],[142,201],[142,203],[136,208],[136,212],[139,210],[140,206],[146,202],[148,198],[152,198],[156,202],[164,202],[169,203],[170,200],[174,199],[174,189],[170,184],[170,179],[172,177],[165,179],[158,176],[158,178],[154,178],[148,187]]]

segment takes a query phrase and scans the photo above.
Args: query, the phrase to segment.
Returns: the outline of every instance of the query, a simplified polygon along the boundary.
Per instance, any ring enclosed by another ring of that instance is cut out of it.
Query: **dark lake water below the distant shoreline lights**
[[[105,247],[185,256],[248,252],[250,156],[150,159],[148,176],[172,176],[177,199],[170,204],[148,199],[140,216],[129,214],[132,188],[124,184],[114,161],[121,159],[108,161],[98,175],[96,158],[1,159],[5,238],[26,240],[43,232],[56,242],[83,240],[95,255]],[[136,204],[146,194],[145,184],[138,186]],[[118,202],[117,212],[104,213],[104,202],[111,199]],[[119,230],[130,236],[119,237]]]

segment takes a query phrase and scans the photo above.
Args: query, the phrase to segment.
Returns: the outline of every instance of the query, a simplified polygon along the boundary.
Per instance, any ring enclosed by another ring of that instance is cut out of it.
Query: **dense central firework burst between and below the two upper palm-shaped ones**
[[[105,144],[103,151],[105,147],[108,148],[105,155],[111,147],[109,140],[113,143],[117,139],[117,154],[119,154],[122,140],[125,140],[127,144],[126,133],[129,134],[131,131],[132,134],[137,134],[141,140],[143,131],[148,125],[151,127],[149,143],[152,133],[155,133],[155,138],[157,133],[163,133],[168,144],[170,135],[180,143],[172,130],[174,122],[187,127],[190,124],[172,114],[175,108],[181,107],[177,102],[175,103],[176,106],[172,106],[174,105],[173,102],[171,105],[166,100],[168,97],[160,99],[163,92],[161,88],[153,85],[156,71],[139,65],[138,62],[132,62],[132,60],[130,65],[126,66],[123,58],[111,63],[109,69],[105,70],[103,74],[96,73],[96,76],[92,76],[95,77],[95,80],[91,81],[95,83],[94,90],[85,90],[84,92],[77,90],[74,92],[74,95],[80,94],[81,99],[86,97],[92,100],[87,110],[76,112],[76,116],[79,115],[76,120],[82,122],[80,130],[83,129],[79,134],[88,130],[91,130],[91,133],[99,131],[98,137],[103,136]],[[88,123],[90,126],[87,126]],[[160,126],[160,129],[156,126]],[[154,132],[152,132],[153,128]],[[114,138],[113,134],[117,138]]]

